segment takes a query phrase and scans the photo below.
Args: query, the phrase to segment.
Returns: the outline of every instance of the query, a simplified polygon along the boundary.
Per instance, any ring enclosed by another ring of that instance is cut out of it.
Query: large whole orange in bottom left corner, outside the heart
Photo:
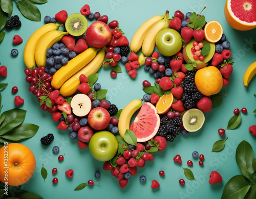
[[[22,185],[35,171],[34,154],[23,144],[11,143],[3,146],[0,149],[0,157],[0,181],[3,183],[8,182],[11,186]]]

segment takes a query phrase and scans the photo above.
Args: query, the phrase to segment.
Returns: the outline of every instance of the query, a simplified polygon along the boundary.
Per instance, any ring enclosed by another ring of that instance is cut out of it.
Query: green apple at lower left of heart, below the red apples
[[[109,131],[96,132],[89,142],[89,150],[98,161],[109,161],[115,157],[118,148],[116,137]]]

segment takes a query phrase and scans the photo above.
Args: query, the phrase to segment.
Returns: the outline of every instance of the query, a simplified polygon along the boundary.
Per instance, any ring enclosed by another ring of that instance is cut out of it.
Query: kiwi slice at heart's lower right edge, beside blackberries
[[[197,108],[188,109],[182,116],[182,124],[189,132],[194,132],[202,128],[204,120],[203,112]]]

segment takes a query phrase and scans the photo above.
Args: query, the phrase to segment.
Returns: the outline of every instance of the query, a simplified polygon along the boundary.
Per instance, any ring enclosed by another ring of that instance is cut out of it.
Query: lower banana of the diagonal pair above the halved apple
[[[102,49],[97,53],[92,61],[85,65],[80,71],[70,77],[60,88],[60,95],[67,97],[73,95],[77,91],[77,86],[80,84],[79,77],[81,74],[89,77],[96,73],[104,61],[105,49]]]

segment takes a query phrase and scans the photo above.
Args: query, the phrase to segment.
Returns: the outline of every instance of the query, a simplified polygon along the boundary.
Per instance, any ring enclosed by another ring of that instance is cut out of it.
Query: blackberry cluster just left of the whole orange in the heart
[[[197,90],[195,84],[195,74],[196,72],[188,72],[185,80],[181,83],[181,87],[184,90],[181,100],[183,101],[186,109],[190,109],[195,106],[196,102],[203,97],[202,94]]]

